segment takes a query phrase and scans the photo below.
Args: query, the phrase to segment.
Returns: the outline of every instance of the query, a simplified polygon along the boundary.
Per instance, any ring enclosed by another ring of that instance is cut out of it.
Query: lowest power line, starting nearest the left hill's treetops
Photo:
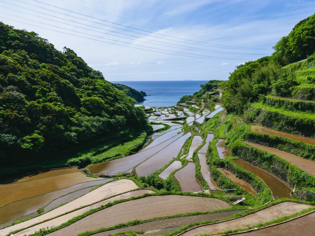
[[[7,20],[13,20],[13,19],[6,18],[6,17],[2,17],[2,18],[7,19]],[[19,22],[19,23],[23,23],[23,24],[27,24],[27,25],[32,25],[32,26],[35,26],[35,27],[38,27],[38,28],[42,28],[42,29],[46,29],[46,30],[51,30],[51,31],[55,31],[55,32],[59,32],[59,33],[67,34],[67,35],[72,35],[72,36],[80,37],[80,38],[90,39],[90,40],[94,40],[94,41],[98,41],[98,42],[105,42],[105,43],[108,43],[108,44],[123,46],[123,47],[127,47],[127,48],[140,49],[140,50],[144,50],[144,51],[150,51],[150,52],[156,52],[156,53],[163,53],[163,54],[170,54],[170,55],[176,55],[176,56],[192,57],[192,58],[201,58],[201,59],[216,59],[216,60],[226,60],[226,59],[229,59],[229,58],[222,58],[222,59],[221,59],[221,58],[209,58],[209,57],[204,57],[204,56],[202,56],[202,55],[201,55],[201,56],[182,55],[182,54],[176,54],[177,52],[176,52],[176,53],[167,53],[167,52],[160,52],[160,51],[155,51],[155,50],[150,50],[150,49],[137,48],[137,47],[132,47],[132,46],[129,46],[129,45],[123,45],[123,44],[118,44],[118,43],[114,43],[114,42],[107,42],[107,41],[103,41],[103,40],[99,40],[99,39],[94,39],[94,38],[89,38],[89,37],[84,37],[84,36],[80,36],[80,35],[75,35],[75,34],[63,32],[63,31],[53,30],[53,29],[49,29],[49,28],[42,27],[42,26],[39,26],[39,25],[33,25],[33,24],[30,24],[30,23],[22,22],[22,21],[19,21],[19,20],[13,20],[13,21],[16,21],[16,22]],[[58,27],[58,26],[56,26],[56,27]],[[83,34],[84,34],[84,33],[83,33]],[[87,35],[88,35],[88,34],[87,34]],[[114,41],[116,41],[116,40],[114,40]],[[118,41],[118,42],[119,42],[119,41]],[[154,49],[154,48],[153,48],[153,49]],[[158,50],[168,51],[168,50],[163,50],[163,49],[158,49]],[[230,60],[239,60],[239,59],[230,59]]]

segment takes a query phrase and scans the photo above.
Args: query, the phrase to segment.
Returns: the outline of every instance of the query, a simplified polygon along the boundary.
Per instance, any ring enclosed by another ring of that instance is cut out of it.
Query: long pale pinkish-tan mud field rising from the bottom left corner
[[[129,180],[129,179],[119,179],[119,180],[107,183],[107,184],[101,186],[100,188],[97,188],[97,189],[93,190],[92,192],[85,194],[82,197],[77,198],[77,199],[75,199],[75,200],[73,200],[73,201],[71,201],[65,205],[62,205],[62,206],[60,206],[60,207],[58,207],[52,211],[49,211],[43,215],[37,216],[37,217],[32,218],[32,219],[25,221],[25,222],[21,222],[19,224],[10,226],[8,228],[4,228],[3,230],[0,230],[0,235],[6,235],[7,233],[12,232],[14,230],[29,227],[30,225],[42,222],[43,220],[50,219],[50,218],[55,217],[55,216],[59,216],[59,215],[64,214],[68,211],[72,211],[72,210],[74,210],[80,206],[89,205],[89,204],[92,204],[96,201],[100,201],[101,199],[110,197],[110,196],[115,195],[115,194],[127,192],[127,191],[133,190],[135,188],[138,188],[138,186],[132,180]],[[87,211],[87,210],[86,209],[84,209],[84,210],[80,209],[78,211],[75,211],[76,213],[74,215],[75,216],[80,215],[85,211]],[[78,214],[78,212],[80,212],[80,214]],[[71,215],[71,213],[69,215]],[[60,218],[60,217],[58,217],[58,218]],[[55,218],[55,219],[48,221],[48,222],[45,222],[46,223],[45,225],[47,225],[48,227],[51,227],[50,222],[58,221],[57,220],[58,218]],[[63,222],[61,222],[61,223],[63,223]],[[44,228],[46,228],[47,226],[45,226]],[[35,226],[34,228],[37,228],[37,227]],[[38,228],[37,228],[37,230],[38,230]]]

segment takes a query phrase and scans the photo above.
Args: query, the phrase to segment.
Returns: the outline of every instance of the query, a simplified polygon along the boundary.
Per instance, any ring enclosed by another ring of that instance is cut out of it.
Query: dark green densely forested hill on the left
[[[0,22],[2,164],[143,129],[146,114],[124,92],[70,48]]]

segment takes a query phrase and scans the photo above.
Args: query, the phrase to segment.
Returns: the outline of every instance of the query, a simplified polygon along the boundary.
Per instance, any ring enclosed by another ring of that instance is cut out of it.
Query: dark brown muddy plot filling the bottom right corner
[[[261,228],[259,230],[253,230],[250,232],[237,233],[235,235],[244,236],[261,236],[261,235],[272,235],[272,236],[300,236],[300,235],[315,235],[315,212],[301,216],[294,220],[290,220],[274,226]]]

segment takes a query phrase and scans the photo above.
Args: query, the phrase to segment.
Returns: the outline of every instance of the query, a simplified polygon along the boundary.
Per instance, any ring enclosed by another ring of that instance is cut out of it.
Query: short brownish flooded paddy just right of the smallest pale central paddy
[[[175,172],[174,176],[178,180],[182,192],[199,192],[202,190],[195,173],[196,166],[193,162],[188,162],[186,166]]]

